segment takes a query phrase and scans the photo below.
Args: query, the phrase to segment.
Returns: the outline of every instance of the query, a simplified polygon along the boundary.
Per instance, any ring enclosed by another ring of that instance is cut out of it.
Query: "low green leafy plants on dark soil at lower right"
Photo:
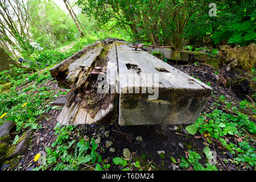
[[[254,105],[244,100],[240,102],[240,108],[238,109],[236,106],[232,106],[231,102],[226,101],[225,96],[220,96],[216,99],[217,102],[214,102],[214,105],[221,106],[222,104],[224,110],[229,113],[218,109],[209,114],[204,113],[195,123],[187,126],[186,129],[192,135],[195,135],[197,131],[200,134],[204,134],[209,143],[213,143],[212,139],[217,139],[230,154],[237,155],[235,158],[236,163],[246,163],[255,168],[255,148],[249,144],[253,138],[248,135],[248,132],[251,135],[255,135],[255,123],[249,120],[248,115],[241,113],[245,108],[253,110],[253,113],[255,113]],[[239,146],[227,141],[226,137],[228,135],[242,138],[242,141],[238,142]]]

